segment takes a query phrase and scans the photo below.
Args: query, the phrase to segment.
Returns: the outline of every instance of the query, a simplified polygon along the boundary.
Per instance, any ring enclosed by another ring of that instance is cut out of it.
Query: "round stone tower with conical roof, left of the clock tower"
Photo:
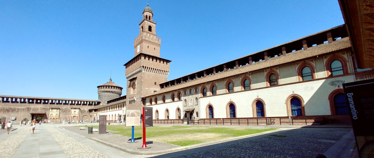
[[[112,78],[109,79],[109,82],[104,85],[97,86],[97,94],[99,94],[99,101],[101,105],[107,104],[108,100],[121,97],[122,87],[116,85],[112,82]]]

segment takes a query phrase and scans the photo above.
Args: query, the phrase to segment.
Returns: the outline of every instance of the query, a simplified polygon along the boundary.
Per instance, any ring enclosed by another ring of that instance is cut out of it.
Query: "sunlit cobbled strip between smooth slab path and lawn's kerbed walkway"
[[[53,127],[47,127],[47,130],[65,154],[70,158],[109,158],[97,150],[59,132]]]

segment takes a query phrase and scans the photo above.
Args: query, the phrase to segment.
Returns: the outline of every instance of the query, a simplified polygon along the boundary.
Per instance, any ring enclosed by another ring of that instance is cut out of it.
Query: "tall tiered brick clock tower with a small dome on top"
[[[134,39],[134,58],[123,65],[127,79],[126,109],[140,110],[145,105],[141,98],[160,90],[159,84],[168,81],[171,61],[160,57],[160,45],[152,9],[147,6],[139,24],[139,35]]]

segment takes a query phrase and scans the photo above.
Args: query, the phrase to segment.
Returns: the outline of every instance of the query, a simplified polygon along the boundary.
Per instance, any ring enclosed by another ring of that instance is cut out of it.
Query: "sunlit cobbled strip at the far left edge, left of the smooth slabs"
[[[25,140],[27,134],[30,134],[30,130],[20,130],[17,133],[4,134],[9,135],[7,139],[4,139],[0,143],[0,155],[1,158],[10,158],[17,151],[18,147]]]

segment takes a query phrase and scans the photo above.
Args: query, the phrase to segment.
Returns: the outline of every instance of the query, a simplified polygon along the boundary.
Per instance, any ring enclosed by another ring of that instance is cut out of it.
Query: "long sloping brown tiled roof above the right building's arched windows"
[[[211,81],[218,80],[218,79],[223,79],[223,78],[227,78],[227,77],[231,77],[231,76],[236,76],[236,75],[240,75],[240,74],[243,74],[243,73],[255,72],[255,71],[258,71],[258,70],[263,70],[263,69],[279,66],[279,65],[282,65],[282,64],[295,62],[295,61],[307,59],[307,58],[310,58],[310,57],[315,57],[315,56],[318,56],[318,55],[330,53],[330,52],[337,51],[337,50],[343,50],[343,49],[349,48],[349,47],[351,47],[350,40],[349,40],[348,37],[346,37],[346,38],[342,38],[340,40],[334,41],[330,44],[326,43],[326,44],[317,45],[315,47],[308,47],[307,50],[295,51],[295,52],[286,54],[286,56],[273,57],[273,58],[270,58],[266,61],[264,61],[264,60],[263,61],[258,61],[256,63],[251,64],[251,65],[248,64],[248,65],[241,66],[241,67],[238,67],[238,68],[235,68],[235,69],[227,70],[225,72],[216,73],[215,75],[209,75],[209,76],[206,76],[206,77],[203,77],[203,78],[190,80],[189,82],[184,82],[184,83],[180,83],[178,85],[163,88],[163,89],[160,89],[157,92],[145,95],[143,98],[150,97],[150,96],[153,96],[153,95],[162,94],[162,93],[169,92],[169,91],[175,91],[175,90],[178,90],[178,89],[187,88],[187,87],[194,86],[194,85],[199,85],[199,84],[205,83],[205,82],[211,82]]]

